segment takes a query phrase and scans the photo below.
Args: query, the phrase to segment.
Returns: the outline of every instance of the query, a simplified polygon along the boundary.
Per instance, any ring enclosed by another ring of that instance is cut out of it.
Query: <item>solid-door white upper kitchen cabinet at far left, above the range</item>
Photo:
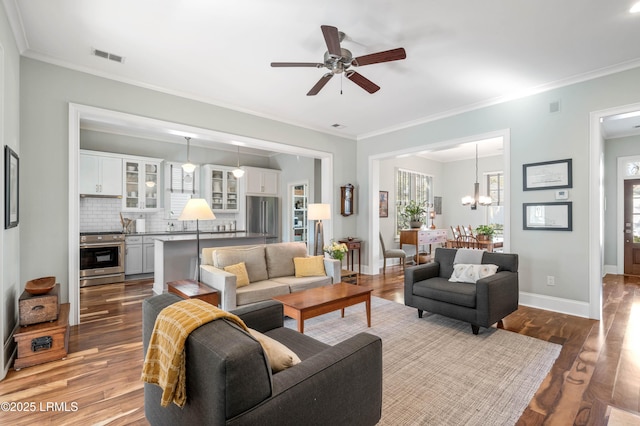
[[[80,195],[122,196],[122,159],[80,152]]]

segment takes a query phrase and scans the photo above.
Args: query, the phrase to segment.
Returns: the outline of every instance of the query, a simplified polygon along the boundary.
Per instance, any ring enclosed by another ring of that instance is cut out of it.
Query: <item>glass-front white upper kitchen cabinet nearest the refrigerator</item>
[[[232,167],[207,164],[203,168],[204,194],[211,210],[222,213],[238,211],[238,179],[233,175]]]

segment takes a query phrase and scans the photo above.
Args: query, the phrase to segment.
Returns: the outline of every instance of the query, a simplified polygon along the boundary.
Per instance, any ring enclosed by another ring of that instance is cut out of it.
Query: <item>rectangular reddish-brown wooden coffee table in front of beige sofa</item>
[[[353,284],[338,283],[325,287],[276,296],[282,302],[284,314],[298,321],[298,331],[304,333],[304,320],[328,312],[364,302],[367,311],[367,326],[371,327],[371,291],[373,289]]]

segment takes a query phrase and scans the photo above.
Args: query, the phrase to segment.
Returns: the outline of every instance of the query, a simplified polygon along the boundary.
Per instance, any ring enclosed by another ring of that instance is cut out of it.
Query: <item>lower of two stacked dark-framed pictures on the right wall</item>
[[[571,231],[572,203],[524,203],[522,204],[523,229],[546,231]]]

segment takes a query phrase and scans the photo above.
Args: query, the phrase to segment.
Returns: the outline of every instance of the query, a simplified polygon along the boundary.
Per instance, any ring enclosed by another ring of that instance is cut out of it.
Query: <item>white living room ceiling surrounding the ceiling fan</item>
[[[24,56],[353,139],[640,66],[635,0],[3,1]],[[322,62],[323,24],[407,59],[306,96],[326,70],[270,62]]]

